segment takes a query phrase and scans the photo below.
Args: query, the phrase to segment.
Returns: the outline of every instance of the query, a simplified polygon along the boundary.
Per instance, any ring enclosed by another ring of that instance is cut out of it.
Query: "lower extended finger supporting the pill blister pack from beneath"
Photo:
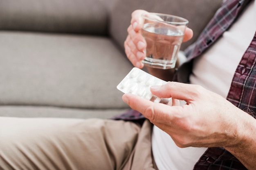
[[[168,124],[173,120],[173,114],[177,113],[177,107],[170,107],[162,103],[154,103],[133,94],[124,94],[122,96],[132,109],[139,111],[152,123]],[[172,114],[173,112],[173,114]]]

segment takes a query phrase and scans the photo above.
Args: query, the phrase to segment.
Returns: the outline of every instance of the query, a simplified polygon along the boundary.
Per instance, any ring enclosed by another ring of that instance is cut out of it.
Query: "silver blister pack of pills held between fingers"
[[[164,85],[166,83],[166,81],[152,76],[139,68],[132,68],[119,85],[117,85],[117,89],[123,93],[135,94],[153,102],[168,104],[170,98],[159,98],[150,92],[151,86]]]

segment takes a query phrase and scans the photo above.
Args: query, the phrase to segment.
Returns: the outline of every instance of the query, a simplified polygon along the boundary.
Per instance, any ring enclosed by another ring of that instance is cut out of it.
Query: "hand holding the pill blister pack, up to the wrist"
[[[220,95],[199,85],[177,82],[153,86],[151,92],[173,101],[164,105],[131,94],[125,94],[123,100],[168,133],[177,146],[230,147],[240,142],[237,134],[243,133],[243,125],[238,122],[247,113]],[[178,100],[186,105],[180,106]]]

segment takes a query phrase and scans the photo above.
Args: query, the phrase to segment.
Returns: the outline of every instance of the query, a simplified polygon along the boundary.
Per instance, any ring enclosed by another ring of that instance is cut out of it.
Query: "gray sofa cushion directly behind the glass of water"
[[[136,9],[149,12],[178,15],[189,20],[189,27],[194,31],[194,37],[183,43],[181,50],[193,43],[209,22],[222,0],[119,0],[111,13],[110,34],[124,49],[123,44],[130,25],[131,13]]]

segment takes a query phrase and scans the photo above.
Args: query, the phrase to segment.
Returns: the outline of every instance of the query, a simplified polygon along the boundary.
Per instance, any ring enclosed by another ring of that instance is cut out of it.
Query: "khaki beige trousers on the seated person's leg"
[[[0,117],[0,170],[153,170],[151,124]]]

